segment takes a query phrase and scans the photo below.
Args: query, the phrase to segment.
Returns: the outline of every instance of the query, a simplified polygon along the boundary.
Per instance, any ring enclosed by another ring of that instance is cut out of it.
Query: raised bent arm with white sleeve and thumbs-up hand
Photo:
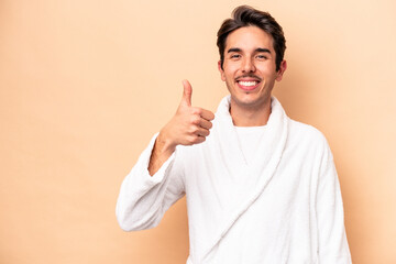
[[[208,110],[191,107],[191,91],[189,82],[184,81],[175,116],[152,139],[121,185],[116,215],[125,231],[154,228],[184,196],[183,161],[176,158],[176,146],[204,142],[215,118]]]

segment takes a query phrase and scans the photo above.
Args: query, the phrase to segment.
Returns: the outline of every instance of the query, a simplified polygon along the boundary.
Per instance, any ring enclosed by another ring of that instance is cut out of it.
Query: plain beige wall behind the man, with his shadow
[[[216,33],[242,1],[0,0],[0,263],[185,263],[185,201],[127,233],[114,206],[180,80],[227,94]],[[396,4],[249,1],[287,38],[275,88],[333,151],[354,263],[396,263]]]

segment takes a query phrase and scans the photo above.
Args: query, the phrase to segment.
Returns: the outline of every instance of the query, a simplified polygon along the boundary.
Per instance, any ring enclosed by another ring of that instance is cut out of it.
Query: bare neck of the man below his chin
[[[242,107],[231,100],[230,114],[235,127],[265,125],[271,114],[271,98],[260,108]]]

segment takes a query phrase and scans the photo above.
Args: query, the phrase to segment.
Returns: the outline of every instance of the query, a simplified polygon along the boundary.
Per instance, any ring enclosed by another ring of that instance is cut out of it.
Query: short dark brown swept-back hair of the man
[[[274,38],[274,50],[276,53],[276,70],[279,70],[280,63],[286,50],[286,40],[282,26],[270,13],[253,9],[249,6],[240,6],[232,11],[232,19],[227,19],[218,31],[217,45],[220,53],[221,68],[224,62],[224,48],[227,36],[243,26],[255,25]]]

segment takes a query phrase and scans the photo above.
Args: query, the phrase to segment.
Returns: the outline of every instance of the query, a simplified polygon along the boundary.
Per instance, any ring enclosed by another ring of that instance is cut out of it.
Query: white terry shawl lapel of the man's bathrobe
[[[218,232],[213,234],[213,239],[209,241],[208,248],[204,252],[202,262],[210,257],[212,250],[226,237],[232,226],[265,190],[266,185],[276,172],[287,140],[288,118],[279,101],[273,97],[272,112],[264,135],[261,142],[257,143],[258,147],[255,157],[246,164],[229,112],[229,106],[230,96],[223,98],[220,102],[216,113],[216,123],[213,124],[213,136],[219,144],[221,162],[224,163],[229,176],[241,177],[243,175],[246,180],[254,179],[255,182],[250,183],[249,186],[254,186],[252,191],[246,191],[241,197],[242,200],[239,206],[226,218]],[[260,177],[252,177],[251,175],[260,175]]]

